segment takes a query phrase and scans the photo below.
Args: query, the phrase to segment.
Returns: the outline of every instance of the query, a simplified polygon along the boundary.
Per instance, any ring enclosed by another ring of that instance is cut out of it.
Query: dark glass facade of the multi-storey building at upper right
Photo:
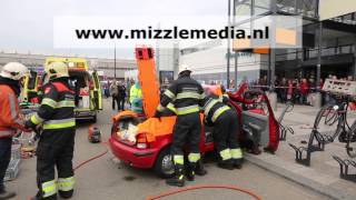
[[[323,2],[322,2],[323,3]],[[275,50],[276,79],[317,77],[319,0],[235,0],[236,14],[297,14],[303,17],[303,48]],[[322,23],[320,78],[356,77],[356,12],[324,20]],[[266,56],[268,57],[268,56]]]

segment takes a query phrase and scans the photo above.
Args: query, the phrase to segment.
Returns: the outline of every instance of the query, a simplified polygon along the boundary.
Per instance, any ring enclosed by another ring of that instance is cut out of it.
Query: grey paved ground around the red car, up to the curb
[[[108,102],[105,102],[108,106]],[[108,107],[106,107],[108,108]],[[108,139],[110,130],[111,110],[100,113],[98,126]],[[87,141],[88,124],[78,127],[76,138],[75,166],[81,161],[105,151],[101,144],[91,144]],[[291,157],[291,156],[290,156]],[[150,170],[137,170],[122,163],[112,161],[111,153],[90,162],[76,171],[77,187],[73,199],[80,200],[115,200],[115,199],[146,199],[149,196],[176,188],[167,187],[162,179],[157,178]],[[218,169],[214,162],[208,162],[209,174],[198,177],[197,181],[188,182],[188,186],[198,184],[228,184],[249,189],[258,193],[263,199],[271,200],[300,200],[300,199],[328,199],[320,193],[301,187],[280,176],[266,171],[250,162],[241,170],[227,171]],[[23,200],[36,192],[36,159],[23,160],[19,178],[9,182],[9,188],[18,191],[16,199]],[[337,174],[337,173],[335,173]],[[251,199],[246,194],[227,190],[201,190],[187,192],[166,199]]]

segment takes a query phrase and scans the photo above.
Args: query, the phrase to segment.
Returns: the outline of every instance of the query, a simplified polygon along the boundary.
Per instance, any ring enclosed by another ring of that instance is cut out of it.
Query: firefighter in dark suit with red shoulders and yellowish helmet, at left
[[[75,187],[72,158],[76,134],[75,92],[69,87],[68,66],[52,62],[44,71],[49,83],[43,86],[43,100],[36,114],[26,121],[26,127],[36,129],[42,124],[37,148],[36,199],[71,198]],[[58,171],[56,181],[55,166]]]

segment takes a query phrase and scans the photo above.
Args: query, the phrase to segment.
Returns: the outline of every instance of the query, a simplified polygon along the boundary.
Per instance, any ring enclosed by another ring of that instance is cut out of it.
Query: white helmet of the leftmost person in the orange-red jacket
[[[3,78],[20,80],[29,74],[29,69],[19,62],[9,62],[2,67],[0,76]]]

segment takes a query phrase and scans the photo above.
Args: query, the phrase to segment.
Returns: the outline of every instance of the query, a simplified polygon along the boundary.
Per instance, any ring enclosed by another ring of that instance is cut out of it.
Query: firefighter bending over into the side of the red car
[[[243,151],[237,140],[237,113],[226,104],[227,101],[225,93],[219,97],[215,92],[208,92],[202,109],[206,123],[214,126],[214,143],[220,156],[218,167],[233,170],[241,168]]]

